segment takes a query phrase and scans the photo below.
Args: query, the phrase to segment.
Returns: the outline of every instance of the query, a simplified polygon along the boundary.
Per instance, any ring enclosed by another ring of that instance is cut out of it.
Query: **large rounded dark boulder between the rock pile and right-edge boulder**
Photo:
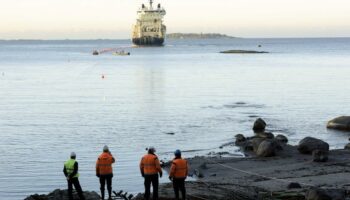
[[[311,154],[314,150],[329,151],[328,143],[313,137],[306,137],[299,142],[298,150],[302,154]]]

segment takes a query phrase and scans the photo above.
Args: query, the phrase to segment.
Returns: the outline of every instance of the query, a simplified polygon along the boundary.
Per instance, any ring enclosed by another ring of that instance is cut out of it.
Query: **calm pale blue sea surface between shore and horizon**
[[[131,56],[91,55],[112,47]],[[218,53],[229,49],[271,53]],[[315,136],[342,148],[349,134],[325,125],[350,114],[350,39],[0,41],[0,97],[0,199],[66,188],[71,151],[83,189],[99,191],[105,144],[117,159],[114,189],[139,192],[147,146],[161,159],[177,148],[239,154],[218,147],[252,134],[257,116],[292,144]]]

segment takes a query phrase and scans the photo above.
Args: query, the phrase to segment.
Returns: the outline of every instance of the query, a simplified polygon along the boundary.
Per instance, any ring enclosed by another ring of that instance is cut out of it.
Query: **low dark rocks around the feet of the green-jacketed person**
[[[100,196],[96,192],[84,192],[86,200],[100,200]],[[74,199],[79,199],[76,193],[73,193]],[[68,200],[68,191],[67,190],[55,190],[47,195],[31,195],[24,200]]]

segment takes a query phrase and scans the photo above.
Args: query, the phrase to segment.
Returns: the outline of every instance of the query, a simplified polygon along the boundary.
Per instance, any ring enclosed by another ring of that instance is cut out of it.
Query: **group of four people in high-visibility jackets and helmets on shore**
[[[149,200],[151,194],[151,185],[153,188],[153,200],[158,199],[158,185],[159,177],[163,176],[160,161],[155,154],[154,147],[147,148],[148,153],[144,155],[140,161],[140,172],[144,178],[145,193],[144,199]],[[179,192],[181,191],[182,199],[186,199],[185,180],[188,175],[188,163],[181,157],[181,151],[174,152],[175,158],[172,160],[170,167],[169,179],[173,182],[175,199],[179,199]],[[96,161],[96,176],[100,180],[100,191],[102,200],[105,198],[105,186],[107,183],[108,200],[112,199],[112,178],[115,158],[109,151],[108,146],[103,147],[102,154]],[[81,200],[85,200],[83,191],[79,183],[78,162],[76,161],[76,154],[71,153],[70,159],[64,163],[63,173],[67,178],[68,183],[68,197],[73,199],[73,185]]]

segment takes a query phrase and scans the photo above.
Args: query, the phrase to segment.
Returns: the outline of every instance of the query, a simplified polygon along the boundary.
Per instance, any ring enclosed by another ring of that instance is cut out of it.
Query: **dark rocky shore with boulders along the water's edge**
[[[340,120],[339,120],[340,119]],[[349,123],[340,117],[329,123]],[[328,125],[329,126],[329,125]],[[329,144],[306,137],[292,146],[284,135],[266,130],[266,122],[258,118],[254,136],[237,134],[221,147],[220,152],[187,159],[189,176],[186,182],[190,200],[347,200],[350,199],[350,143],[344,149],[329,150]],[[337,128],[336,127],[336,128]],[[333,127],[332,127],[333,128]],[[245,157],[227,157],[226,146],[238,146]],[[169,171],[171,162],[163,163]],[[53,198],[54,194],[61,195]],[[25,200],[64,199],[64,191],[49,195],[32,195]],[[97,200],[97,193],[87,197]],[[50,198],[49,198],[50,197]],[[160,184],[159,200],[174,199],[171,183]],[[143,194],[126,200],[142,200]]]

